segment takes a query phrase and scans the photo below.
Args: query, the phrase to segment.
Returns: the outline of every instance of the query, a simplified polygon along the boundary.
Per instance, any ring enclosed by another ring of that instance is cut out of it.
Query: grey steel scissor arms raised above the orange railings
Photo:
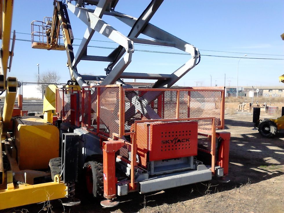
[[[85,2],[88,3],[89,1]],[[95,3],[95,1],[91,2]],[[114,84],[117,79],[120,78],[136,78],[157,79],[158,81],[154,84],[153,88],[170,88],[198,63],[197,60],[200,59],[200,54],[197,48],[149,23],[150,19],[163,2],[162,0],[151,1],[139,18],[122,14],[115,11],[114,7],[111,8],[110,6],[115,6],[117,1],[115,1],[115,4],[114,1],[110,0],[100,0],[96,2],[97,7],[95,10],[81,8],[70,2],[68,3],[68,9],[87,25],[83,40],[79,46],[76,57],[72,62],[72,69],[76,68],[80,60],[110,61],[110,64],[105,69],[107,76],[102,81],[101,85]],[[122,35],[110,25],[102,21],[101,17],[103,14],[114,16],[132,27],[128,36],[126,37]],[[112,41],[115,41],[119,44],[119,46],[106,57],[87,55],[87,46],[95,31],[103,34]],[[137,38],[140,34],[145,34],[154,40]],[[135,50],[133,43],[175,47],[189,53],[191,55],[191,59],[170,75],[129,72],[124,74],[123,71],[131,62],[132,53]],[[96,77],[94,77],[94,79],[95,78]]]

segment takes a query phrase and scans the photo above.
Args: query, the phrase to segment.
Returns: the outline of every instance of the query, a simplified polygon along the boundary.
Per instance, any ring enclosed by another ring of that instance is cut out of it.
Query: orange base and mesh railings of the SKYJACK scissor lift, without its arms
[[[228,174],[230,133],[216,132],[224,128],[221,87],[106,85],[87,86],[81,91],[62,88],[56,94],[56,112],[63,123],[87,130],[100,140],[103,196],[107,199],[102,201],[103,206],[116,205],[117,195],[132,191],[146,193],[193,183],[189,179],[196,183],[210,180],[212,175],[223,178]],[[141,105],[146,94],[151,108],[148,112]],[[151,110],[160,118],[150,119]],[[182,158],[193,161],[180,163]],[[177,166],[159,168],[153,163],[167,161],[176,161]],[[211,163],[205,167],[202,161]],[[119,181],[117,170],[123,166],[129,168],[129,176]]]

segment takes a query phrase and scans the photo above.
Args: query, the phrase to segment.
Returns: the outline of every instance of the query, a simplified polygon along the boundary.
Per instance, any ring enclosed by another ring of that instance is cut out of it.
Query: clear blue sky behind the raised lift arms
[[[30,33],[32,20],[43,20],[52,16],[53,0],[14,0],[12,30]],[[149,1],[120,0],[116,11],[139,17]],[[72,12],[68,11],[74,34],[74,44],[80,40],[86,29]],[[103,16],[103,20],[123,34],[130,28],[114,17]],[[150,23],[170,32],[199,48],[204,55],[219,55],[256,58],[284,59],[284,41],[280,35],[284,32],[284,1],[283,0],[220,0],[190,1],[165,0]],[[17,39],[28,39],[30,35],[16,34]],[[110,41],[99,33],[94,40]],[[90,45],[116,47],[115,43],[91,41]],[[135,45],[136,50],[154,50],[164,52],[181,52],[174,48]],[[240,53],[212,52],[229,51]],[[88,54],[107,56],[112,50],[88,48]],[[77,52],[77,47],[74,47]],[[252,54],[254,53],[254,54]],[[274,54],[274,55],[258,55]],[[148,72],[170,74],[183,65],[190,56],[176,54],[159,54],[134,51],[132,62],[125,72]],[[16,41],[12,70],[9,76],[18,77],[19,81],[36,82],[37,63],[40,73],[47,70],[57,71],[61,82],[70,79],[66,67],[65,51],[32,49],[31,42]],[[236,85],[238,58],[201,57],[201,62],[177,82],[179,86],[210,86]],[[77,68],[79,73],[105,75],[104,68],[108,62],[81,61]],[[239,86],[282,86],[278,77],[284,74],[284,60],[241,59],[239,63]],[[284,88],[284,86],[283,86]]]

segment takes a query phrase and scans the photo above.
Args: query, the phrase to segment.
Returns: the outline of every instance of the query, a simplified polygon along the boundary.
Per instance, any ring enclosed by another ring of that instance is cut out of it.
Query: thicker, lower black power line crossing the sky
[[[17,41],[28,41],[28,42],[32,42],[32,40],[28,40],[28,39],[16,39]],[[80,46],[79,44],[72,44],[73,46]],[[115,50],[116,48],[112,48],[112,47],[101,47],[101,46],[91,46],[88,45],[88,47],[92,47],[92,48],[101,48],[101,49],[110,49],[110,50]],[[152,52],[152,53],[162,53],[162,54],[175,54],[175,55],[190,55],[189,53],[178,53],[178,52],[164,52],[164,51],[154,51],[154,50],[135,50],[137,52]],[[240,59],[243,57],[236,57],[236,56],[222,56],[222,55],[203,55],[201,54],[201,56],[209,56],[209,57],[221,57],[221,58],[236,58],[236,59]],[[284,59],[275,59],[275,58],[252,58],[252,57],[245,57],[244,59],[266,59],[266,60],[284,60]]]

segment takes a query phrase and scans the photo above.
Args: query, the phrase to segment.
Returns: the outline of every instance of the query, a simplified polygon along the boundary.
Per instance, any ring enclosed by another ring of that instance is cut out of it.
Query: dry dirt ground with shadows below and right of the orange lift
[[[60,201],[51,201],[3,212],[284,212],[284,132],[266,139],[252,128],[251,114],[225,115],[225,131],[231,132],[229,183],[214,179],[145,195],[130,193],[113,208],[102,208],[98,200],[79,193],[81,205],[76,207],[64,209]]]

